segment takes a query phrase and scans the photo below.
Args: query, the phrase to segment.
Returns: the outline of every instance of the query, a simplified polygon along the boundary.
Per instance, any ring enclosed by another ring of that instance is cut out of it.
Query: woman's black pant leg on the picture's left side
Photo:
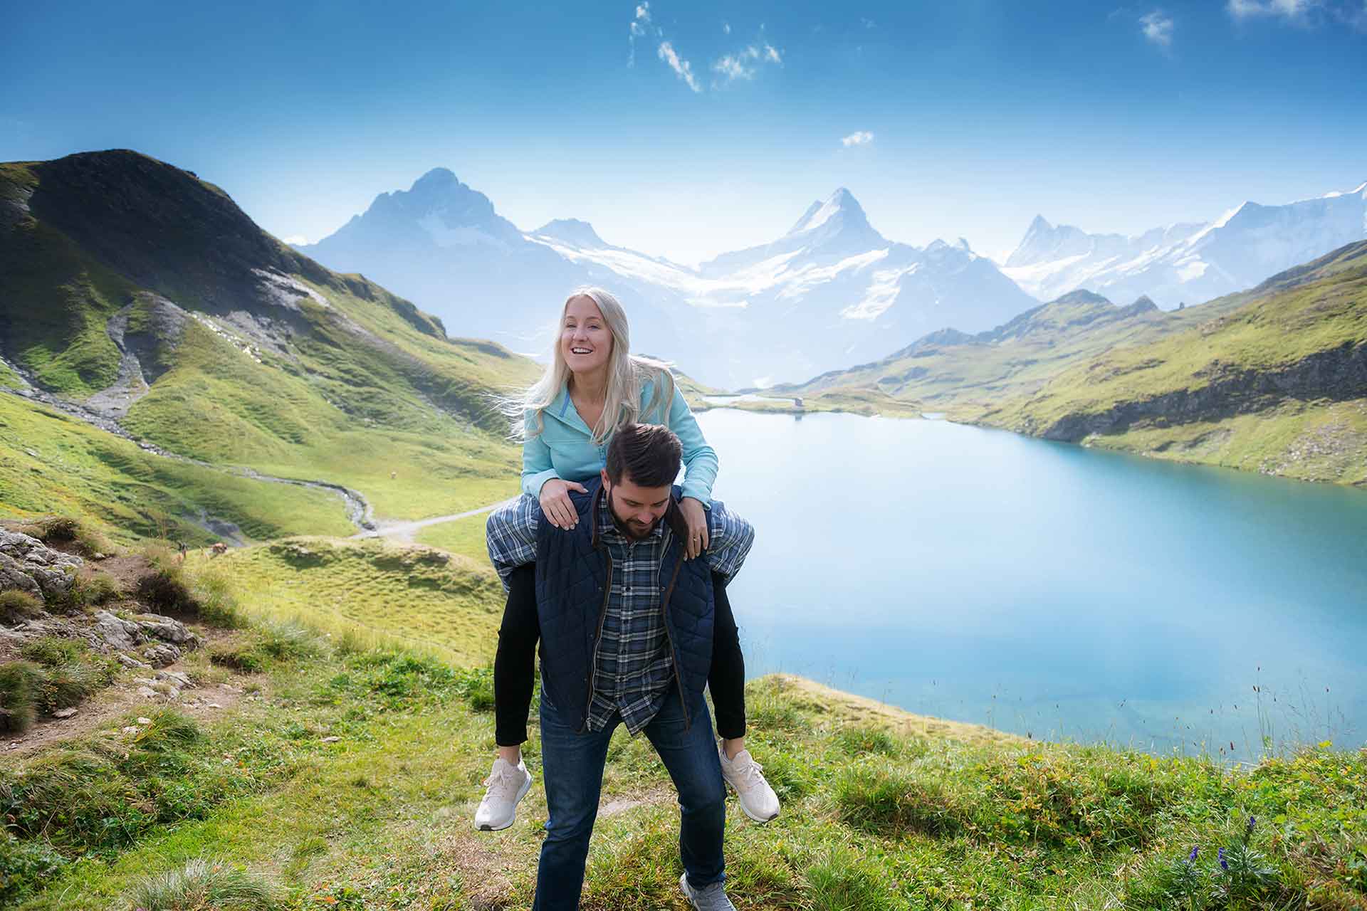
[[[493,656],[493,739],[500,747],[515,747],[526,740],[540,638],[536,564],[529,563],[509,575],[509,600],[499,626],[499,650]]]

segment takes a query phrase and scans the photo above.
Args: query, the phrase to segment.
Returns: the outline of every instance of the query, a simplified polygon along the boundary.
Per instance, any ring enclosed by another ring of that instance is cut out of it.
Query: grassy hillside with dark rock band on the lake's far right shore
[[[801,387],[808,407],[884,395],[971,423],[1147,456],[1338,483],[1367,482],[1367,389],[1307,358],[1367,343],[1367,246],[1178,311],[1074,292],[991,332],[939,332]],[[1355,385],[1356,384],[1356,385]],[[1099,430],[1091,428],[1099,426]]]

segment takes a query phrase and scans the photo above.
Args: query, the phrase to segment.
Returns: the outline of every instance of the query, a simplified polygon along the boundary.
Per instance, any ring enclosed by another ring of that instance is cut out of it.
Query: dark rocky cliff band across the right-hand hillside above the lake
[[[1367,343],[1318,351],[1273,370],[1226,370],[1215,362],[1202,372],[1202,378],[1208,380],[1203,387],[1117,402],[1103,411],[1069,414],[1038,436],[1077,443],[1092,434],[1122,433],[1139,422],[1219,421],[1263,411],[1288,399],[1360,399],[1367,396]]]

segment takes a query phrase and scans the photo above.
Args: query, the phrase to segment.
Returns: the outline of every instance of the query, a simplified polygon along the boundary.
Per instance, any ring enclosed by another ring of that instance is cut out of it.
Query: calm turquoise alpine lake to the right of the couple
[[[757,531],[749,676],[1152,753],[1367,742],[1367,492],[945,421],[699,422]]]

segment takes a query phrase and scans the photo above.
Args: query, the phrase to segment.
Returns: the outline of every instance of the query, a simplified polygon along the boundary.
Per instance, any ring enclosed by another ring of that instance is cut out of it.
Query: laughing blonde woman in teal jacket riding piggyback
[[[582,288],[566,299],[551,363],[541,378],[507,408],[524,440],[524,497],[539,501],[547,522],[562,529],[574,527],[578,514],[569,492],[586,493],[580,482],[599,475],[612,432],[627,422],[664,423],[679,437],[684,449],[679,511],[688,523],[685,559],[705,559],[716,453],[703,438],[668,367],[632,355],[629,339],[622,305],[607,291]],[[500,539],[499,535],[506,535],[510,523],[528,514],[526,508],[518,512],[519,505],[517,500],[510,501],[496,509],[488,522],[489,555],[509,587],[509,601],[493,662],[498,757],[474,814],[476,828],[483,830],[513,825],[517,803],[532,784],[532,776],[522,763],[521,744],[526,740],[540,632],[536,565],[522,561],[515,567],[500,564],[496,555],[502,550],[493,544]],[[744,555],[742,549],[735,559],[744,560]],[[528,556],[534,559],[534,550]],[[778,815],[778,798],[764,780],[760,763],[745,748],[745,660],[726,598],[726,582],[740,565],[714,564],[712,568],[716,623],[708,687],[722,736],[722,773],[741,796],[745,814],[767,822]]]

